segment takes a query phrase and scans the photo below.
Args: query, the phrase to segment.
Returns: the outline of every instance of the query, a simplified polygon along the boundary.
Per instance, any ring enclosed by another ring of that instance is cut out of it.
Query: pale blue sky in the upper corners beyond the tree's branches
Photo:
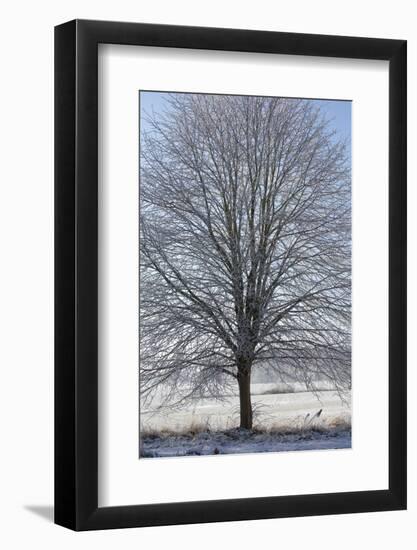
[[[158,114],[164,108],[166,92],[140,92],[141,124],[146,129],[146,122],[143,120],[145,112]],[[337,131],[341,138],[351,140],[351,101],[339,100],[314,100],[318,103],[329,123]]]

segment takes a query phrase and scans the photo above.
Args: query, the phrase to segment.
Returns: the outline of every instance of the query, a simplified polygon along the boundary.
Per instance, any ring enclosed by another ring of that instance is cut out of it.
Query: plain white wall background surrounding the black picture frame
[[[3,548],[414,548],[417,24],[413,2],[38,0],[1,10],[0,544]],[[109,19],[403,38],[409,53],[409,510],[72,533],[53,499],[53,26]]]

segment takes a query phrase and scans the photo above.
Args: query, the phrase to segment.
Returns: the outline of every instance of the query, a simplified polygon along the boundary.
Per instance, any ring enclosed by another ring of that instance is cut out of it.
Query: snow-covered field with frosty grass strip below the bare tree
[[[183,409],[141,408],[142,457],[339,449],[351,446],[350,392],[253,384],[254,429],[239,430],[238,396]],[[321,411],[321,412],[320,412]]]

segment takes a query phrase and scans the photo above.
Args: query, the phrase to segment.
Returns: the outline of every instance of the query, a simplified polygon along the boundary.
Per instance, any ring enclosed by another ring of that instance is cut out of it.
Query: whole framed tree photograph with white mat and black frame
[[[406,42],[55,29],[55,522],[406,507]]]

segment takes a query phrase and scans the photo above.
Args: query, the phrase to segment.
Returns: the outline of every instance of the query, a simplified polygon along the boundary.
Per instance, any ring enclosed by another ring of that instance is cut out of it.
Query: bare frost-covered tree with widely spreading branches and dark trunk
[[[312,101],[171,94],[141,137],[141,392],[350,384],[350,168]],[[170,397],[168,391],[167,397]]]

